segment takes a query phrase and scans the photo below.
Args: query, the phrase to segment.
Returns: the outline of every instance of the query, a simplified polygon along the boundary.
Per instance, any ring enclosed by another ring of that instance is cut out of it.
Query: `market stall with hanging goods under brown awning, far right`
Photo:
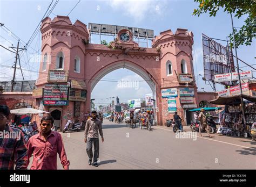
[[[244,105],[245,121],[242,116],[241,98]],[[247,95],[219,97],[209,101],[212,104],[225,105],[220,113],[221,131],[232,136],[251,136],[251,126],[256,121],[256,97]]]

